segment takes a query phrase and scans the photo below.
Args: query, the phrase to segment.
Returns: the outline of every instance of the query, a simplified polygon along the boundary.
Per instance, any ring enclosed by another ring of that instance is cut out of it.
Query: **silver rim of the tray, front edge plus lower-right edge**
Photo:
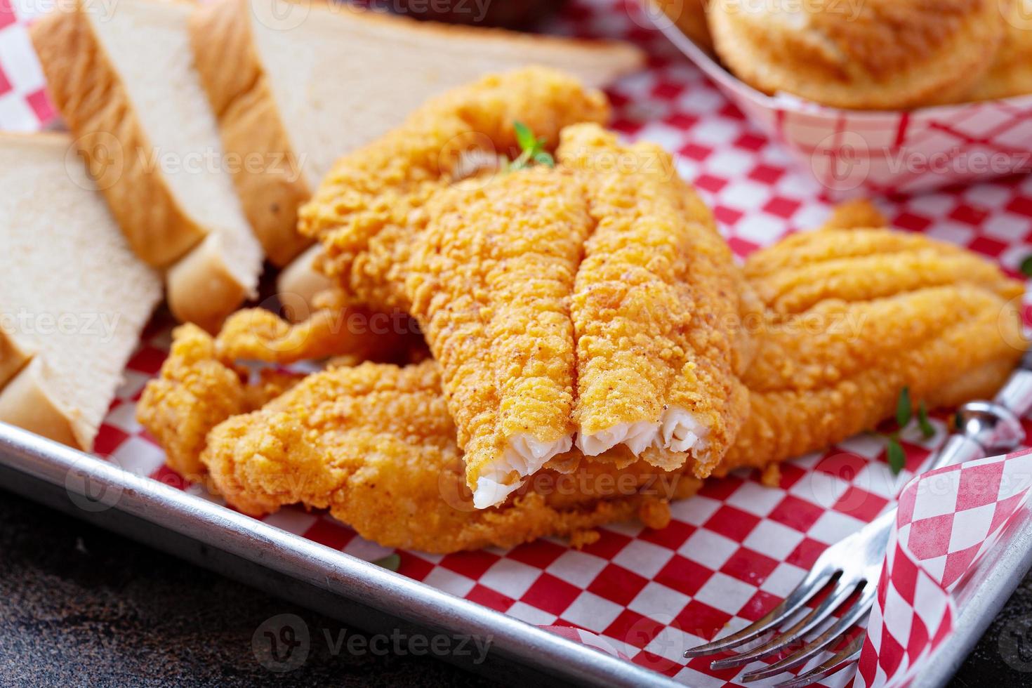
[[[453,633],[490,635],[492,649],[545,674],[595,685],[682,685],[658,671],[574,643],[502,612],[3,422],[0,422],[0,466],[63,488],[69,496],[73,493],[85,496],[85,492],[78,483],[68,478],[73,473],[88,478],[90,487],[117,490],[119,498],[105,511],[135,517],[156,529],[195,539],[253,566],[367,604],[406,623]],[[3,487],[6,486],[0,485]],[[87,513],[83,512],[83,516]],[[1008,545],[994,548],[963,586],[960,595],[963,603],[955,630],[926,660],[928,668],[914,679],[913,686],[945,686],[1032,569],[1030,523],[1032,507],[1026,509],[1024,518],[1009,526],[1012,539]],[[107,526],[101,524],[101,527]],[[280,556],[266,556],[273,548]],[[360,620],[347,621],[359,621],[357,625],[361,625]]]

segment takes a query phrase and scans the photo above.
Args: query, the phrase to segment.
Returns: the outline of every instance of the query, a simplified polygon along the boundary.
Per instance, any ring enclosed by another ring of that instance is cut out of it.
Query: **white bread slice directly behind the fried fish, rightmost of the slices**
[[[602,86],[644,63],[625,43],[453,27],[318,0],[219,0],[190,26],[223,145],[257,163],[233,176],[278,265],[308,245],[296,211],[333,162],[428,98],[529,64]]]

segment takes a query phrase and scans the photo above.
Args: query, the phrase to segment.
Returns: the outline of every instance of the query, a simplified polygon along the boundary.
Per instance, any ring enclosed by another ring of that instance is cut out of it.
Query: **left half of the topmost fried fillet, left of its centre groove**
[[[581,179],[543,167],[459,185],[428,210],[406,287],[485,507],[572,445],[570,294],[594,221]]]

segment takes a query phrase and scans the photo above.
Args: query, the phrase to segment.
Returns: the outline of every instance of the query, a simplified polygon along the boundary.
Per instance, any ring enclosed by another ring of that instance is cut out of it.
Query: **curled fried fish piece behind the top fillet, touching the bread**
[[[605,122],[609,103],[544,67],[486,76],[434,98],[404,125],[342,158],[299,214],[299,231],[325,248],[319,266],[356,302],[408,310],[402,289],[418,211],[439,190],[496,164],[517,145],[513,122],[549,148],[577,122]]]

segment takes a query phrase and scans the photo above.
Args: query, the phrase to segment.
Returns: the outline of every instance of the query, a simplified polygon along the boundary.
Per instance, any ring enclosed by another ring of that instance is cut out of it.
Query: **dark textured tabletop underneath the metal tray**
[[[252,638],[300,617],[320,635],[345,624],[0,491],[0,685],[489,686],[438,659],[352,656],[312,643],[271,675]],[[955,680],[1032,684],[1032,576]]]

